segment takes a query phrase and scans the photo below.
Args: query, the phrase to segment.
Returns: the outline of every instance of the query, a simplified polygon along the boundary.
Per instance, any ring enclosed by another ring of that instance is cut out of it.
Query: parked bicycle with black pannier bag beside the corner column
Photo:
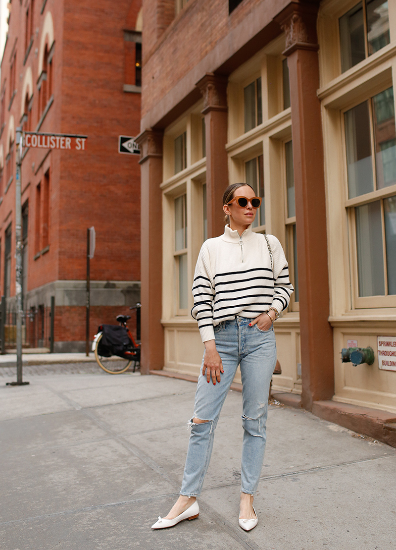
[[[135,307],[130,307],[130,310],[136,310],[137,317],[137,332],[139,331],[140,326],[140,307],[141,304],[136,304]],[[92,342],[92,351],[95,354],[95,359],[99,367],[103,368],[105,372],[108,372],[110,375],[120,375],[122,372],[126,372],[131,364],[134,361],[133,372],[136,371],[136,368],[140,368],[140,343],[136,343],[133,335],[127,325],[127,321],[131,318],[130,315],[117,315],[116,321],[119,325],[114,325],[114,327],[124,327],[126,329],[126,337],[129,338],[129,342],[125,343],[122,346],[122,351],[118,350],[117,355],[111,353],[114,351],[113,346],[104,346],[102,342],[103,339],[103,324],[98,327],[97,334],[94,335]],[[105,327],[113,327],[113,325],[105,325]],[[139,337],[139,336],[138,336]],[[138,366],[136,364],[138,363]]]

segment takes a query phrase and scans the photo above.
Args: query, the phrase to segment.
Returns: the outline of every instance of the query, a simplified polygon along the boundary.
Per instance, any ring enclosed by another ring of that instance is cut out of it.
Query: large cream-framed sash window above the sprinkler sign
[[[396,294],[396,132],[393,88],[344,113],[348,210],[357,294]]]

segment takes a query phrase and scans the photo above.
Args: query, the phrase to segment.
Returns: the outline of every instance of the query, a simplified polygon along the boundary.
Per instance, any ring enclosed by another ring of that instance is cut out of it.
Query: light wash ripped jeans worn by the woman
[[[224,368],[221,382],[198,378],[194,417],[209,422],[194,423],[188,443],[186,466],[180,494],[198,497],[208,470],[214,432],[222,405],[230,389],[238,365],[241,365],[243,402],[243,445],[241,491],[253,494],[258,487],[266,442],[268,397],[276,363],[274,329],[260,331],[251,319],[237,317],[215,327],[216,349]],[[203,364],[203,362],[202,362]]]

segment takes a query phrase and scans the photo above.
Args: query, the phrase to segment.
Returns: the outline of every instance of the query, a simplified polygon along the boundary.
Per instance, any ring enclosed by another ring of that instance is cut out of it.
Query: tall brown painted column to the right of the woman
[[[276,20],[286,33],[297,228],[302,406],[334,394],[333,331],[328,316],[324,152],[316,36],[317,5],[291,2]]]

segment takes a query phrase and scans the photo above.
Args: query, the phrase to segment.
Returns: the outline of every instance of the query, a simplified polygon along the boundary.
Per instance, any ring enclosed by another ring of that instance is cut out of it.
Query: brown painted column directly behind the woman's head
[[[222,195],[228,186],[227,78],[207,73],[197,83],[204,97],[207,153],[208,237],[224,233]]]

